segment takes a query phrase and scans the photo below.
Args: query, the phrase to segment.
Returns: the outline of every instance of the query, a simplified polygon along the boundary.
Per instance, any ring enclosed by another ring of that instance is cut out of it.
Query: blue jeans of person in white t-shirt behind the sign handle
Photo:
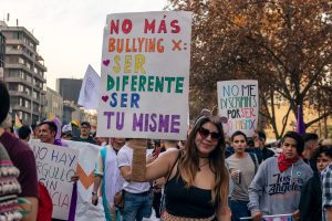
[[[142,221],[152,214],[153,194],[152,193],[131,193],[124,196],[124,221]]]

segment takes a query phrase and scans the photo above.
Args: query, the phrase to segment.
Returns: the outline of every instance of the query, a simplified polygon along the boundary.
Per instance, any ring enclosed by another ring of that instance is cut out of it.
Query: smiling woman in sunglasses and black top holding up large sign
[[[205,110],[190,130],[184,151],[165,152],[146,166],[145,180],[166,179],[164,221],[230,220],[224,151],[219,117]],[[139,168],[133,168],[133,173],[135,169]]]

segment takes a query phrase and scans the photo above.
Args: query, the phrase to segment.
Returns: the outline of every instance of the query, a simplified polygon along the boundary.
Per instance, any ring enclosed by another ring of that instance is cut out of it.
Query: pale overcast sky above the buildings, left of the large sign
[[[25,27],[39,40],[48,86],[56,78],[83,78],[91,64],[100,74],[103,27],[113,12],[160,11],[167,0],[0,0],[0,20]]]

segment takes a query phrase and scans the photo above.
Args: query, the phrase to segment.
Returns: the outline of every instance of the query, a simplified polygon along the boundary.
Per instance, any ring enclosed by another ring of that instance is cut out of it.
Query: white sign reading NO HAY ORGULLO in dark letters
[[[52,218],[68,220],[79,152],[39,140],[29,143],[35,158],[38,179],[46,187],[53,202]]]

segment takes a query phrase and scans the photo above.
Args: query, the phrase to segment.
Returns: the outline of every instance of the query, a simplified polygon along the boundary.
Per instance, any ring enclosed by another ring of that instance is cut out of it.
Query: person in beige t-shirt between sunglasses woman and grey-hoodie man
[[[235,154],[226,159],[234,181],[229,207],[232,214],[231,220],[239,221],[240,218],[250,217],[247,207],[249,203],[248,188],[253,180],[259,164],[255,154],[246,152],[247,136],[242,131],[235,131],[231,135],[231,143]]]

